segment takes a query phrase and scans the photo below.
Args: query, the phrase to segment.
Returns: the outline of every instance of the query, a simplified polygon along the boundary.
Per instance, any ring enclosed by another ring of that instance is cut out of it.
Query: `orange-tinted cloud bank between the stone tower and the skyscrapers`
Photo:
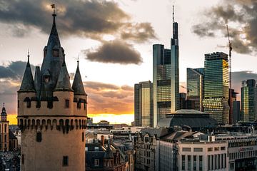
[[[133,113],[133,88],[109,83],[88,81],[84,83],[88,93],[89,113]]]

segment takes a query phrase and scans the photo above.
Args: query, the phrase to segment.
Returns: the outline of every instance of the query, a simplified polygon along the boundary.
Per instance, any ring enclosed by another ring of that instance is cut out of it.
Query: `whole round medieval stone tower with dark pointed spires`
[[[35,76],[28,62],[18,91],[21,170],[85,170],[87,100],[79,62],[71,87],[56,14]]]

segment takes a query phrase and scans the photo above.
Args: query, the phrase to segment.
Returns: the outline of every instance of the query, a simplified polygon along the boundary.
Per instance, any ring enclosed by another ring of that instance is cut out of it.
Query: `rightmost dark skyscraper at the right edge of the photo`
[[[256,107],[256,81],[253,79],[242,81],[241,109],[243,121],[252,122],[257,119]]]

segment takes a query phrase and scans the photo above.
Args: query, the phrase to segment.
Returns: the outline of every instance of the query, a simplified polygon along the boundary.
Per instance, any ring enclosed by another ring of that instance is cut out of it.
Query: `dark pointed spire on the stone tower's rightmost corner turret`
[[[74,90],[75,95],[86,95],[86,92],[84,90],[84,85],[81,79],[81,73],[79,71],[79,58],[77,61],[77,68],[76,68],[76,73],[74,77],[74,82],[72,84],[72,89]]]

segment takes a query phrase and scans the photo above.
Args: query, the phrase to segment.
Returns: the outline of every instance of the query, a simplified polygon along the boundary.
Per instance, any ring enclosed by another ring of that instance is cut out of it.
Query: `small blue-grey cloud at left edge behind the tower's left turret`
[[[16,81],[21,81],[26,68],[24,61],[11,61],[8,66],[0,66],[0,78],[6,78]],[[31,65],[31,70],[34,73],[35,66]]]

